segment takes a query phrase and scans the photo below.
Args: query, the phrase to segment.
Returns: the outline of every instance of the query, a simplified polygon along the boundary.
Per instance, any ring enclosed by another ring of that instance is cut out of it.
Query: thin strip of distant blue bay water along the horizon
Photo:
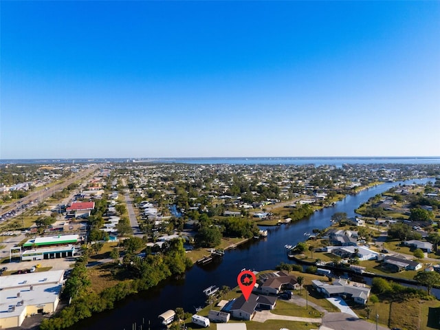
[[[0,159],[0,164],[175,163],[230,165],[440,164],[437,157],[199,157],[199,158],[71,158]]]

